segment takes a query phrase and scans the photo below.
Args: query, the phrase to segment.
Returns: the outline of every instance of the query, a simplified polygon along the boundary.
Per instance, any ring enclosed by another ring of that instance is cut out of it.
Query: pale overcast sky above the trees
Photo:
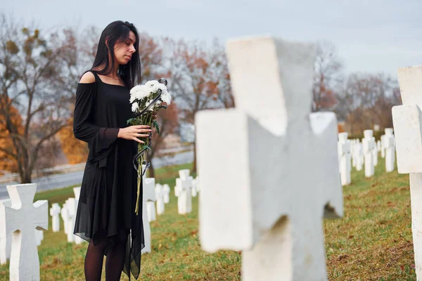
[[[422,64],[422,0],[1,0],[0,12],[41,27],[133,22],[139,31],[223,41],[274,34],[332,41],[347,72],[386,72]]]

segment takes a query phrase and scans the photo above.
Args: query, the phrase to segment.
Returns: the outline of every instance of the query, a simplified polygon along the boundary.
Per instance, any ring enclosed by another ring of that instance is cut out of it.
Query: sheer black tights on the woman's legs
[[[124,252],[126,250],[127,232],[119,232],[113,247],[107,251],[106,281],[118,281],[124,266]],[[87,255],[85,256],[85,280],[101,281],[103,270],[103,258],[108,246],[108,238],[98,239],[95,245],[93,240],[89,242]]]

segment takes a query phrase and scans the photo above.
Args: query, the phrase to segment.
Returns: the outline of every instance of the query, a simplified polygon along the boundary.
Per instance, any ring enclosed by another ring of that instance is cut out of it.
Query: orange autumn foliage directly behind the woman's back
[[[73,134],[73,119],[68,120],[68,126],[65,126],[58,132],[63,153],[68,157],[69,164],[78,164],[86,162],[88,158],[88,145],[79,141]]]

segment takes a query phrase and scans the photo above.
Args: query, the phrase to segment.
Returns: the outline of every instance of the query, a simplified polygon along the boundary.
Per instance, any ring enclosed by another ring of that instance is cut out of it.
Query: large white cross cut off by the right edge
[[[422,280],[422,65],[399,68],[398,77],[403,105],[392,107],[397,168],[400,174],[410,174],[416,276]]]

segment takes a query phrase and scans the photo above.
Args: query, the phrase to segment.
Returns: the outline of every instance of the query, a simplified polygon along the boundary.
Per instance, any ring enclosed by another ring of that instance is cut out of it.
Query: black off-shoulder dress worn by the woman
[[[137,279],[141,249],[145,247],[141,206],[139,214],[135,214],[137,174],[132,158],[137,145],[135,141],[117,138],[119,128],[127,127],[126,120],[132,117],[129,89],[106,84],[96,72],[91,72],[96,81],[79,83],[76,91],[73,132],[88,143],[89,155],[74,233],[88,242],[92,239],[94,244],[107,238],[109,246],[113,246],[117,233],[127,233],[123,272],[129,279],[132,272]]]

